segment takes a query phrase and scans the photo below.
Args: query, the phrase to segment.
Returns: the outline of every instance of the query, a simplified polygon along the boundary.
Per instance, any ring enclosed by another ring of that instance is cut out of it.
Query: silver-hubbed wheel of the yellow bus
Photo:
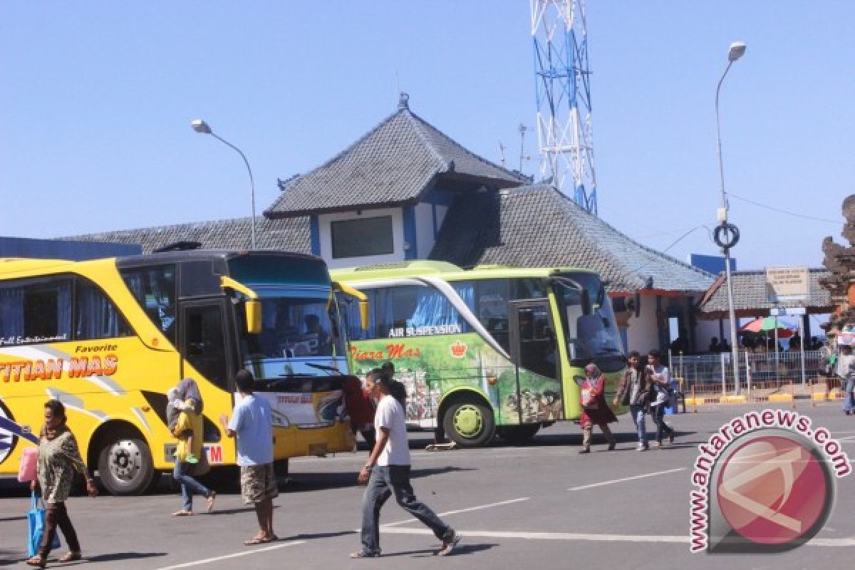
[[[139,434],[117,432],[98,453],[98,475],[113,495],[141,495],[155,476],[151,451]]]

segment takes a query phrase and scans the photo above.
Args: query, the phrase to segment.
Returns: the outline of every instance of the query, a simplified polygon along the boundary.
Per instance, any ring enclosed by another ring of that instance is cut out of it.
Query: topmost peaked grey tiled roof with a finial
[[[350,148],[289,182],[270,217],[416,203],[438,176],[492,188],[528,179],[466,150],[404,103]]]

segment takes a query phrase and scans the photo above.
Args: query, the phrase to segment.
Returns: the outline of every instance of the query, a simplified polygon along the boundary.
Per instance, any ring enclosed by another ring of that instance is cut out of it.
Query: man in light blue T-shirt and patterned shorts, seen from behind
[[[273,532],[273,500],[279,496],[273,470],[273,414],[270,403],[253,391],[255,379],[249,370],[234,375],[239,402],[232,419],[220,416],[220,423],[229,438],[238,438],[240,493],[244,502],[256,509],[259,530],[245,540],[245,546],[277,540]]]

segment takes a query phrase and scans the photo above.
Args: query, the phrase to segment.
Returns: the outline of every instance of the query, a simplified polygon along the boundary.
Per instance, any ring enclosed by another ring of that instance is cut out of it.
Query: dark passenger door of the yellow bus
[[[180,303],[180,350],[181,355],[184,356],[184,360],[181,361],[181,377],[186,378],[192,374],[185,367],[186,361],[204,379],[227,392],[228,405],[231,406],[229,371],[237,370],[239,367],[233,362],[234,351],[229,350],[230,345],[227,342],[229,337],[226,334],[226,309],[227,301],[222,299]],[[216,418],[213,420],[215,421]],[[219,430],[208,417],[204,419],[204,431],[206,441],[219,439],[217,437]]]

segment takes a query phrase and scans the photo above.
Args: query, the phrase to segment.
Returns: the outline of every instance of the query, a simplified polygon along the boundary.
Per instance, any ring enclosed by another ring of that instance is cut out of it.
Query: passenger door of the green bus
[[[548,400],[560,401],[561,394],[555,325],[549,301],[512,301],[510,307],[510,357],[516,368],[520,421],[549,420],[551,417],[545,415],[552,413],[545,410],[550,409],[552,402]],[[550,379],[555,382],[554,386],[549,385]]]

